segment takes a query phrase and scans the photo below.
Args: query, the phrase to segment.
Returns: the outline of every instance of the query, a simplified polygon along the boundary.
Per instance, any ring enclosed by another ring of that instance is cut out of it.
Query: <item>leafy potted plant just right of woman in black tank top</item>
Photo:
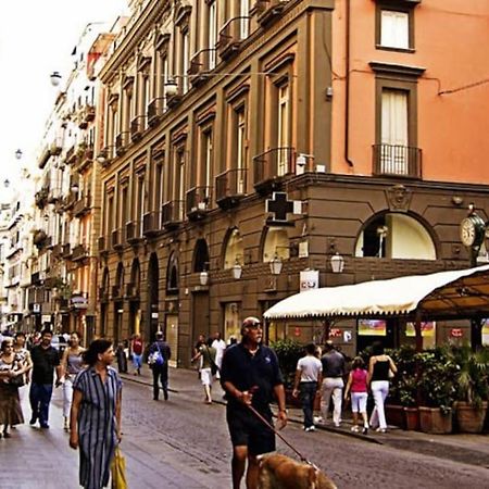
[[[418,368],[421,430],[430,434],[451,432],[456,364],[440,348],[417,353],[415,360]]]

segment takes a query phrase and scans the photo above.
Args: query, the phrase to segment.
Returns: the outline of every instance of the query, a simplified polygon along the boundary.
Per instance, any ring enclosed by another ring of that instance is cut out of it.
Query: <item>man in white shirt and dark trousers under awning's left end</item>
[[[313,413],[314,399],[322,383],[323,364],[316,358],[316,346],[309,343],[305,347],[305,356],[299,359],[296,369],[292,396],[301,394],[302,410],[304,412],[304,430],[314,431]]]

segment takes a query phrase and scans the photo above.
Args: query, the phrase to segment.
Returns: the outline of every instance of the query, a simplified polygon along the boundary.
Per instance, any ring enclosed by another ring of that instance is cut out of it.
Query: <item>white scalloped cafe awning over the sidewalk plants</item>
[[[489,317],[489,265],[410,275],[297,293],[264,313],[268,321],[412,316]]]

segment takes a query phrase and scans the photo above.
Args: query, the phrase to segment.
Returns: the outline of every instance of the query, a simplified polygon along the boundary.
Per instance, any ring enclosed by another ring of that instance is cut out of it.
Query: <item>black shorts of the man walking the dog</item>
[[[260,414],[273,426],[271,411]],[[252,455],[275,451],[275,434],[248,409],[228,406],[226,419],[233,447],[248,447]]]

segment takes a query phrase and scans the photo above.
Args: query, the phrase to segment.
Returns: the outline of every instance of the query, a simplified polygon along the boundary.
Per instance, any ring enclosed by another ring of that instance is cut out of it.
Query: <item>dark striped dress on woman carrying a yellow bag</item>
[[[77,374],[73,388],[83,394],[78,412],[79,484],[85,489],[100,489],[109,484],[122,381],[112,367],[108,367],[105,383],[95,367],[87,367]]]

